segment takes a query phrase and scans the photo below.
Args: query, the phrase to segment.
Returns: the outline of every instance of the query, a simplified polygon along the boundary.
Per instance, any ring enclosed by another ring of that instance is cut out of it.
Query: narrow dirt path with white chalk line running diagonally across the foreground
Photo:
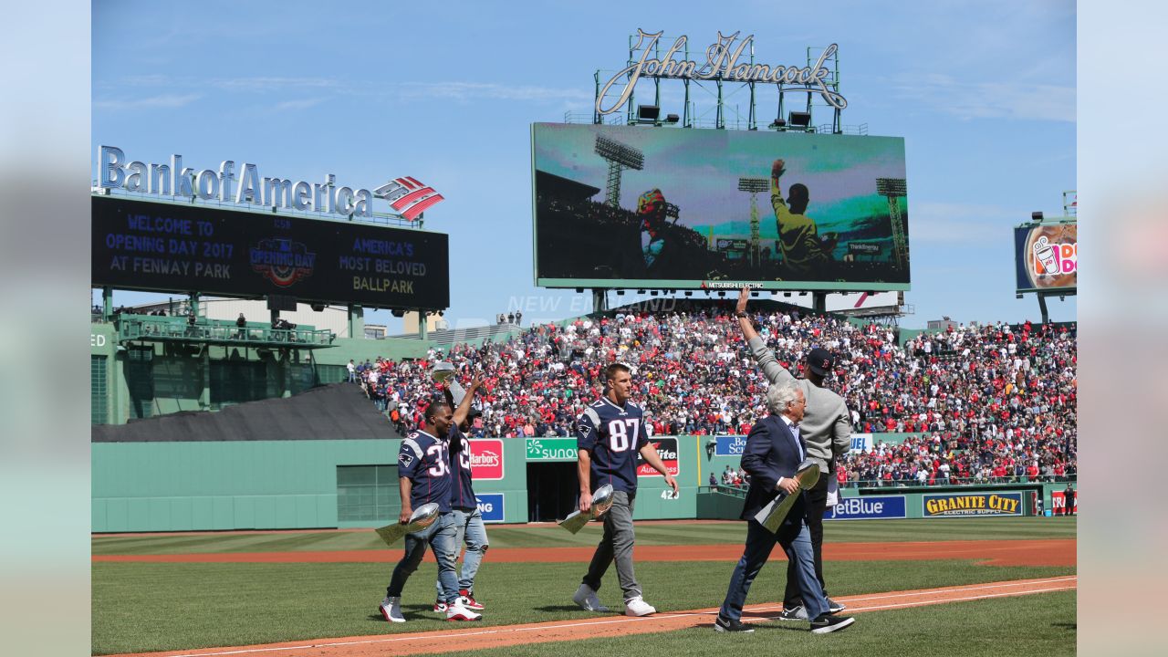
[[[1016,580],[920,589],[906,592],[853,595],[836,600],[848,606],[848,614],[877,611],[884,609],[903,609],[926,604],[943,604],[969,600],[987,600],[1003,596],[1033,595],[1057,590],[1073,590],[1078,578],[1045,578],[1040,580]],[[752,604],[744,609],[744,622],[769,621],[778,616],[781,604]],[[281,657],[373,657],[385,653],[423,655],[432,652],[473,652],[488,648],[505,648],[516,644],[550,643],[559,641],[578,641],[595,638],[603,632],[612,635],[637,635],[662,632],[687,628],[709,625],[717,609],[695,609],[691,611],[674,611],[641,618],[625,616],[602,616],[580,621],[554,621],[549,623],[528,623],[522,625],[467,627],[451,630],[353,636],[314,641],[270,643],[262,645],[239,645],[213,648],[203,650],[138,652],[114,657],[218,657],[225,655],[278,655]],[[794,624],[794,623],[792,623]]]

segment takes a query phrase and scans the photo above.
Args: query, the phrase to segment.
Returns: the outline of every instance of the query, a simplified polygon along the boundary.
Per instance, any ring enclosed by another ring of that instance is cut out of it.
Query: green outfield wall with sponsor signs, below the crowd
[[[660,476],[639,478],[637,519],[736,518],[741,497],[717,492],[737,456],[717,455],[708,436],[656,437],[681,493]],[[92,531],[174,532],[375,527],[401,510],[398,440],[223,441],[92,444]],[[575,440],[486,438],[472,442],[475,493],[489,521],[554,520],[575,503]],[[716,448],[716,444],[715,444]],[[1031,514],[1065,484],[934,486],[843,491],[850,518]],[[540,491],[538,496],[529,491]],[[1009,493],[1009,495],[1007,495]],[[1016,495],[1015,495],[1016,493]],[[989,496],[999,499],[990,500]],[[1006,497],[1003,497],[1006,496]],[[903,498],[896,502],[895,498]],[[847,502],[858,498],[862,502]],[[885,498],[894,498],[891,500]],[[937,513],[930,516],[933,500]],[[1002,500],[1016,500],[1013,509]],[[880,513],[872,514],[880,502]],[[980,505],[980,506],[979,506]],[[536,506],[540,506],[538,513]],[[489,509],[488,509],[489,507]],[[844,509],[844,507],[841,507]],[[890,514],[891,513],[891,514]],[[841,518],[842,519],[842,518]]]

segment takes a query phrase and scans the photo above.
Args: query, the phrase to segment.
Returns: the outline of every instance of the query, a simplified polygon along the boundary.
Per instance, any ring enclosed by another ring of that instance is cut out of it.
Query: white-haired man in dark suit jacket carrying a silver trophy
[[[807,456],[806,444],[799,436],[799,421],[802,420],[806,403],[802,390],[797,386],[771,386],[766,390],[766,407],[771,414],[755,424],[746,436],[742,466],[750,473],[750,490],[741,516],[748,523],[746,549],[734,569],[726,597],[714,621],[714,629],[717,631],[755,631],[743,624],[742,606],[746,602],[750,585],[763,569],[776,542],[783,546],[787,559],[797,565],[795,575],[811,620],[811,631],[833,632],[855,622],[855,618],[832,615],[815,576],[815,556],[806,523],[807,503],[799,482],[794,479],[799,464]],[[779,532],[773,534],[755,516],[780,492],[797,495],[799,498]]]

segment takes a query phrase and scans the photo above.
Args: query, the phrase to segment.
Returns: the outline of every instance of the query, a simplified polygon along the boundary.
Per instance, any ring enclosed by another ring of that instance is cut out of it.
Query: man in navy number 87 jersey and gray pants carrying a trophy
[[[677,493],[674,480],[661,462],[656,448],[648,441],[641,408],[628,401],[632,374],[628,366],[614,362],[605,368],[609,392],[584,409],[576,420],[576,475],[580,484],[580,513],[592,509],[592,492],[611,484],[612,507],[604,516],[604,537],[596,547],[588,574],[572,601],[589,611],[607,611],[596,592],[609,565],[617,562],[617,578],[625,594],[625,615],[647,616],[656,611],[641,597],[641,587],[633,574],[633,500],[637,497],[637,455],[665,476],[665,483]]]

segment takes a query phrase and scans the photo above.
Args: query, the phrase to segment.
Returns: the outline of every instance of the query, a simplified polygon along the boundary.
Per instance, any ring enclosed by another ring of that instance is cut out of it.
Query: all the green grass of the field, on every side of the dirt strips
[[[639,545],[741,542],[744,525],[642,523]],[[968,519],[844,521],[828,525],[829,541],[957,540],[1073,538],[1075,519]],[[598,527],[571,535],[558,527],[488,528],[493,547],[593,545]],[[373,532],[281,532],[171,537],[95,537],[95,554],[168,554],[186,552],[265,552],[296,549],[374,549],[383,544]],[[215,645],[392,634],[450,629],[430,611],[434,600],[432,563],[423,563],[403,595],[411,621],[385,623],[376,606],[384,595],[392,563],[141,563],[95,562],[92,568],[92,650],[95,653],[176,650]],[[732,562],[640,562],[637,575],[646,599],[661,611],[715,607],[721,603]],[[571,603],[583,563],[491,563],[477,582],[487,606],[484,625],[590,617]],[[829,593],[854,595],[885,590],[1002,581],[1072,574],[1066,567],[995,567],[972,561],[832,561],[826,566]],[[764,568],[750,603],[781,600],[785,563]],[[616,573],[605,579],[602,600],[619,603]],[[1010,610],[1003,613],[1003,609]],[[1042,594],[1021,599],[965,602],[920,609],[868,613],[857,628],[839,636],[812,637],[777,623],[763,623],[736,642],[735,652],[763,651],[759,641],[778,639],[832,653],[982,655],[996,645],[1010,651],[1071,653],[1075,649],[1075,595]],[[862,625],[861,625],[862,623]],[[855,631],[854,631],[855,630]],[[708,628],[703,631],[712,631]],[[778,632],[778,634],[776,634]],[[689,637],[687,639],[686,637]],[[702,655],[723,652],[698,630],[589,641],[586,653]],[[597,642],[614,642],[612,645]],[[829,643],[822,643],[829,642]],[[596,644],[596,645],[593,645]],[[835,646],[846,646],[837,652]],[[892,646],[896,646],[894,650]],[[502,653],[548,655],[563,644]],[[854,651],[854,652],[849,652]]]

